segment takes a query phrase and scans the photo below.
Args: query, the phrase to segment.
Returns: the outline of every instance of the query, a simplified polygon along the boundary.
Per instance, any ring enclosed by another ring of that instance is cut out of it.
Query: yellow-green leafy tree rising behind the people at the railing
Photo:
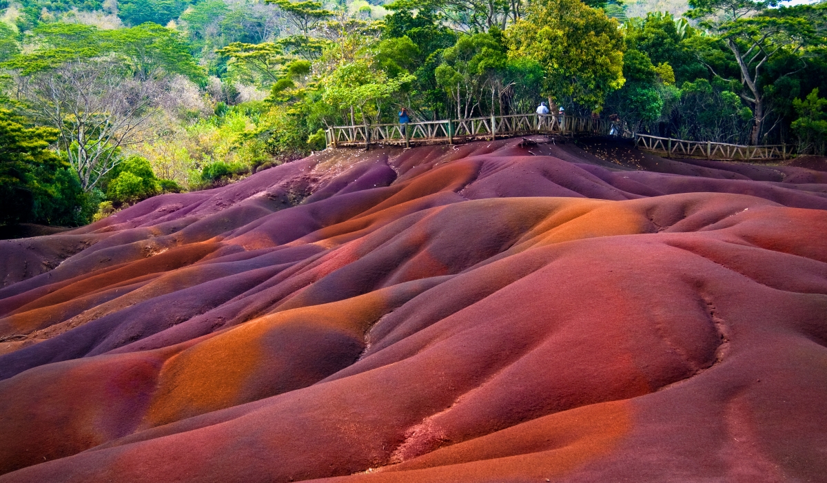
[[[606,95],[625,82],[617,21],[580,0],[538,0],[526,13],[506,31],[509,55],[543,65],[548,98],[600,111]]]

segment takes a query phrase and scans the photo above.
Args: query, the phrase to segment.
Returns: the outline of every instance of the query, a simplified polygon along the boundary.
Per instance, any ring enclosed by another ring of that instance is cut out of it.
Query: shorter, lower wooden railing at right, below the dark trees
[[[684,141],[671,137],[635,134],[634,144],[644,151],[664,153],[667,158],[705,158],[707,160],[786,160],[791,146],[772,144],[743,146],[712,141]]]

